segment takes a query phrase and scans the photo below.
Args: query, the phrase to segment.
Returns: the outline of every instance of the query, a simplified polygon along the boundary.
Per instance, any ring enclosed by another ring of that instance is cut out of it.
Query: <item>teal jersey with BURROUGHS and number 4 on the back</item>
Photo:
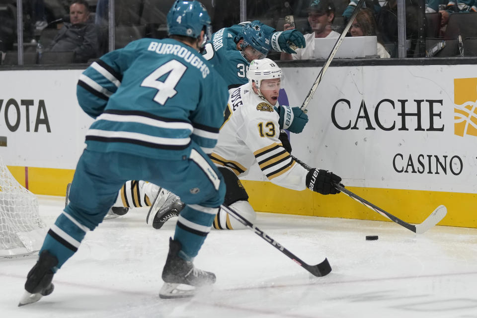
[[[173,39],[140,39],[109,52],[80,76],[81,108],[96,120],[87,149],[158,159],[210,154],[224,120],[224,79],[193,48]]]

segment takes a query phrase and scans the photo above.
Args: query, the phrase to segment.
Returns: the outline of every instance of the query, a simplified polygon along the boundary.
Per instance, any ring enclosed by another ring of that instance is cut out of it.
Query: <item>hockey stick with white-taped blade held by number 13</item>
[[[302,165],[305,169],[308,169],[308,170],[311,169],[311,167],[308,164],[301,161],[300,159],[297,159],[293,156],[292,156],[292,158],[295,161],[297,161],[300,165]],[[435,226],[437,223],[439,223],[447,214],[447,208],[444,205],[440,205],[434,211],[432,211],[432,213],[427,217],[427,219],[424,220],[424,222],[422,222],[421,224],[412,225],[412,224],[409,224],[405,221],[402,221],[401,219],[395,217],[391,213],[384,211],[380,207],[378,207],[378,206],[372,204],[371,202],[366,201],[365,199],[361,198],[360,196],[354,194],[353,192],[346,189],[342,184],[335,184],[334,187],[336,189],[338,189],[339,191],[341,191],[342,193],[349,196],[350,198],[358,201],[359,203],[361,203],[361,204],[367,206],[368,208],[370,208],[371,210],[381,214],[382,216],[390,219],[391,221],[399,224],[400,226],[402,226],[402,227],[404,227],[404,228],[406,228],[406,229],[408,229],[408,230],[410,230],[410,231],[412,231],[416,234],[423,234],[424,232],[426,232],[427,230],[429,230],[430,228]]]

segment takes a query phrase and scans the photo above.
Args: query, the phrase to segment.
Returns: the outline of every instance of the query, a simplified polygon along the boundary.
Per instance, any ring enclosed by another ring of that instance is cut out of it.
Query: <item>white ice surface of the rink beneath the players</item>
[[[48,225],[63,206],[64,198],[40,197]],[[313,277],[251,231],[213,230],[195,264],[217,283],[192,299],[162,300],[175,219],[158,231],[146,215],[136,209],[88,233],[53,294],[35,304],[17,307],[36,259],[0,260],[0,317],[477,318],[477,229],[417,236],[391,222],[260,213],[256,226],[309,264],[327,257],[332,272]]]

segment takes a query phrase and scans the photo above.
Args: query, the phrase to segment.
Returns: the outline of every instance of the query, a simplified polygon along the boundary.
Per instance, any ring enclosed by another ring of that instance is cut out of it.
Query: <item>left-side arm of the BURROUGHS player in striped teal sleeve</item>
[[[130,59],[134,58],[133,52],[136,45],[133,42],[123,49],[103,55],[79,77],[76,90],[78,103],[92,118],[96,118],[103,112],[109,97],[121,85],[123,73],[127,70]]]

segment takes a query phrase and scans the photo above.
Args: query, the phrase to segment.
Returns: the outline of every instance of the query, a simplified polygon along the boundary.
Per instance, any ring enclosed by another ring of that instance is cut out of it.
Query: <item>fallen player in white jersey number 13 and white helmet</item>
[[[209,155],[226,182],[224,203],[250,222],[255,220],[256,213],[239,176],[245,175],[255,161],[267,178],[279,186],[298,191],[309,188],[320,194],[339,193],[333,186],[341,181],[339,176],[318,168],[307,170],[291,157],[288,137],[280,134],[276,111],[281,78],[282,70],[270,59],[250,63],[249,82],[232,91],[219,140]],[[158,194],[160,187],[153,184],[144,184],[142,188],[143,192],[151,193],[148,196],[157,197],[148,215],[148,223],[154,228],[159,229],[178,214],[177,209],[180,211],[179,198],[173,193],[161,189]],[[133,191],[126,191],[129,192]],[[229,230],[244,228],[222,210],[213,226]]]

